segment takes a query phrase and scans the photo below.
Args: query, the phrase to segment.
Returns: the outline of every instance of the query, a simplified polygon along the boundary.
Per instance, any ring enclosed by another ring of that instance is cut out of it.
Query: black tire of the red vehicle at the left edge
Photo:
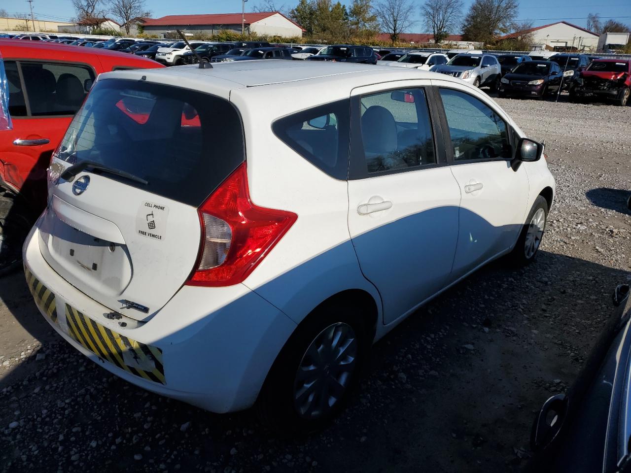
[[[30,212],[11,194],[0,196],[0,276],[22,264],[22,244],[33,226]]]

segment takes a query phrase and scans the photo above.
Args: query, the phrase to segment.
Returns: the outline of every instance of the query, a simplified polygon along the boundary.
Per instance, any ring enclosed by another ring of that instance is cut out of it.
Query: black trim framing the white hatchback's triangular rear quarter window
[[[349,115],[349,105],[348,98],[343,98],[341,100],[335,100],[334,102],[322,103],[321,105],[316,105],[315,107],[304,108],[298,112],[292,112],[287,115],[283,115],[282,117],[278,117],[271,124],[271,130],[274,133],[274,136],[280,140],[281,143],[288,146],[288,148],[292,149],[298,156],[307,161],[310,165],[314,166],[315,169],[319,170],[326,174],[328,177],[345,181],[348,180],[348,173],[350,167],[350,149],[349,146],[346,146],[346,170],[343,173],[343,177],[338,177],[333,173],[329,172],[326,167],[321,167],[316,165],[315,163],[321,161],[315,156],[313,153],[309,153],[307,149],[302,148],[299,144],[293,142],[290,139],[286,139],[287,135],[285,133],[286,127],[285,122],[287,120],[295,120],[297,122],[306,121],[309,117],[318,117],[321,115],[317,115],[320,110],[322,110],[322,115],[324,114],[336,114],[338,115],[338,158],[339,153],[343,149],[345,143],[350,143],[350,115]],[[314,115],[315,114],[315,115]],[[304,120],[303,120],[304,119]],[[343,159],[343,156],[341,157]],[[340,165],[341,168],[344,166]]]

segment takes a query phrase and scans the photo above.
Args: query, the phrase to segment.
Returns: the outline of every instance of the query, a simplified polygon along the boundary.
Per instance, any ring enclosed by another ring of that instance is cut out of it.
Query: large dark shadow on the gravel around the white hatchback
[[[308,438],[145,392],[45,343],[0,394],[0,470],[519,471],[534,412],[572,383],[628,278],[545,251],[522,269],[498,260],[378,342],[343,416]]]

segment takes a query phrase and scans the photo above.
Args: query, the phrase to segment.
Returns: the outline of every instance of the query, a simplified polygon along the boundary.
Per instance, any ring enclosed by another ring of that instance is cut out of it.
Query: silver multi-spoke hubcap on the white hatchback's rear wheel
[[[339,402],[355,370],[357,348],[355,331],[348,324],[329,325],[315,337],[293,383],[293,402],[300,416],[321,418]]]

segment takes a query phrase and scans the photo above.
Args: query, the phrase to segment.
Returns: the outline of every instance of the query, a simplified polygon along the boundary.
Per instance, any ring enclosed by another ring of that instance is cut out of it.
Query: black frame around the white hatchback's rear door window
[[[430,127],[432,129],[432,137],[434,142],[434,155],[436,158],[435,163],[423,164],[420,166],[413,166],[410,168],[390,169],[386,171],[369,173],[366,168],[366,156],[363,150],[362,142],[362,97],[369,95],[377,95],[380,93],[392,92],[396,90],[409,90],[409,89],[423,89],[425,97],[427,98],[427,113],[430,119]],[[372,177],[385,176],[390,174],[399,174],[404,172],[420,171],[424,169],[438,168],[441,166],[447,166],[449,163],[446,160],[444,146],[440,146],[440,143],[444,141],[442,135],[442,129],[437,122],[440,112],[437,108],[437,102],[435,100],[435,87],[430,85],[410,85],[407,87],[398,85],[390,85],[389,87],[372,91],[370,93],[363,93],[351,96],[351,134],[350,134],[350,168],[348,170],[348,180],[366,179]]]

